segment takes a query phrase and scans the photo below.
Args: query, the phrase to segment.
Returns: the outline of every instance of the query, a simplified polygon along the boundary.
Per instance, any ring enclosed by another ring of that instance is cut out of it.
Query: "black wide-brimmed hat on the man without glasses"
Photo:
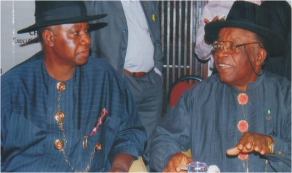
[[[74,24],[102,17],[106,17],[106,14],[88,16],[83,1],[35,1],[35,24],[17,33],[29,33],[44,26]]]

